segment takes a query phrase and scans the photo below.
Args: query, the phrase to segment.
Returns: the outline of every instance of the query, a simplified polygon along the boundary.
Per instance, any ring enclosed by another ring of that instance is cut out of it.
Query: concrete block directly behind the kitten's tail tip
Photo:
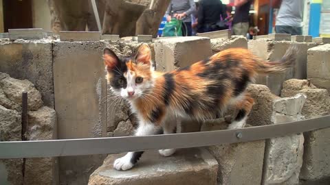
[[[307,49],[315,47],[315,43],[300,43],[288,41],[273,41],[266,39],[250,40],[248,48],[252,53],[267,61],[278,61],[284,56],[291,45],[298,47],[296,64],[292,69],[281,74],[271,74],[256,78],[256,84],[264,84],[272,93],[280,95],[282,83],[291,78],[306,79],[307,77]]]

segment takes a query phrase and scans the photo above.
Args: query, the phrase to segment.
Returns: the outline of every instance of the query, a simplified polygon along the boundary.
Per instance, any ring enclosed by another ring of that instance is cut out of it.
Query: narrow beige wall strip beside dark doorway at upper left
[[[48,1],[32,0],[32,16],[33,27],[40,27],[47,31],[52,30],[50,26],[51,17]]]

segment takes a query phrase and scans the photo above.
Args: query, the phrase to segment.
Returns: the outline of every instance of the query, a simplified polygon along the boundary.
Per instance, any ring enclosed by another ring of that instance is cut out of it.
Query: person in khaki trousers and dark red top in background
[[[249,11],[252,0],[234,0],[235,14],[232,20],[234,35],[246,36],[249,30]]]

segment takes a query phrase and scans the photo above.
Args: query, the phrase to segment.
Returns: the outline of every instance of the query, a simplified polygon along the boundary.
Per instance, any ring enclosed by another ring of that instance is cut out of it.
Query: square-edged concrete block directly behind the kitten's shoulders
[[[157,70],[172,71],[212,55],[210,38],[189,36],[155,41]]]

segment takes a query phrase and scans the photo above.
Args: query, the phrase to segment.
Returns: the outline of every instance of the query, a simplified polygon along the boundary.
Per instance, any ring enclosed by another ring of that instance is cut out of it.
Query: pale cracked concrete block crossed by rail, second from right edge
[[[305,119],[301,111],[306,96],[276,99],[273,104],[272,123],[285,123]],[[298,184],[303,164],[303,134],[270,138],[266,141],[262,184]]]

